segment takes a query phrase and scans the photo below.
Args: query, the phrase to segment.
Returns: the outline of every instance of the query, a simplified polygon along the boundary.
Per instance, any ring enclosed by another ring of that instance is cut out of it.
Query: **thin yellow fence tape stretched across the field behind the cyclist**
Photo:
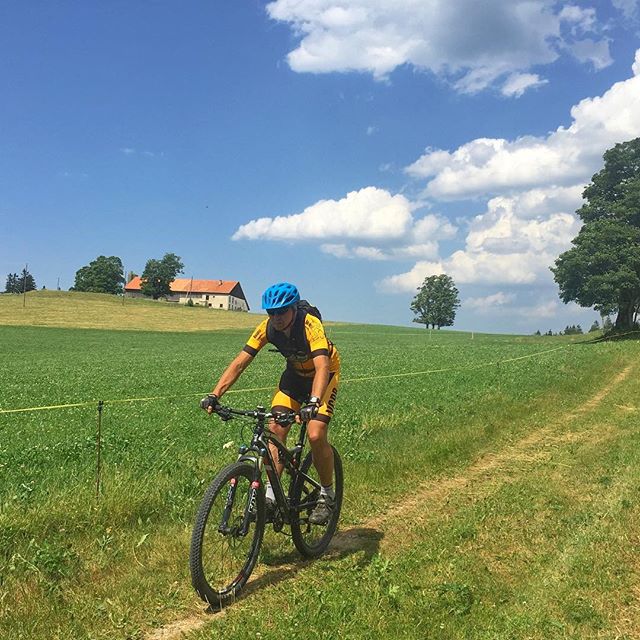
[[[613,336],[615,338],[621,338],[626,335],[630,335],[632,333],[640,333],[639,331],[629,331],[628,333],[620,334],[619,336]],[[526,356],[518,356],[517,358],[505,358],[504,360],[496,360],[495,362],[483,362],[482,364],[471,365],[469,367],[447,367],[445,369],[427,369],[425,371],[409,371],[406,373],[390,373],[384,376],[369,376],[364,378],[346,378],[341,380],[341,384],[348,384],[350,382],[370,382],[371,380],[388,380],[390,378],[408,378],[411,376],[423,376],[429,375],[431,373],[446,373],[449,371],[472,371],[473,369],[481,369],[483,367],[492,367],[499,364],[505,364],[507,362],[516,362],[517,360],[526,360],[527,358],[535,358],[537,356],[544,355],[545,353],[552,353],[554,351],[559,351],[560,349],[567,349],[575,344],[583,344],[583,343],[595,343],[601,342],[603,340],[608,340],[610,338],[599,338],[598,340],[576,340],[574,342],[570,342],[569,344],[563,344],[559,347],[555,347],[553,349],[545,349],[544,351],[536,351],[535,353],[529,353]],[[250,389],[231,389],[227,391],[229,393],[248,393],[252,391],[271,391],[273,389],[273,385],[268,387],[253,387]],[[181,398],[192,398],[194,396],[203,396],[206,393],[188,393],[179,396],[148,396],[144,398],[123,398],[121,400],[104,400],[103,404],[106,406],[108,404],[130,404],[132,402],[150,402],[151,400],[178,400]],[[76,402],[74,404],[56,404],[50,405],[46,407],[26,407],[23,409],[0,409],[0,415],[8,414],[8,413],[29,413],[33,411],[52,411],[54,409],[73,409],[77,407],[93,407],[98,404],[98,400],[92,400],[89,402]]]

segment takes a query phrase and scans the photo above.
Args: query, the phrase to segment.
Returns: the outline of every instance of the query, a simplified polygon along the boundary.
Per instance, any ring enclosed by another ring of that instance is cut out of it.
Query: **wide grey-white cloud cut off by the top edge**
[[[558,8],[552,0],[275,0],[267,12],[299,39],[287,57],[299,72],[360,71],[383,79],[410,64],[474,93],[505,77],[513,84],[513,74],[565,52],[610,63],[593,9]],[[525,85],[521,78],[520,90],[539,82]]]

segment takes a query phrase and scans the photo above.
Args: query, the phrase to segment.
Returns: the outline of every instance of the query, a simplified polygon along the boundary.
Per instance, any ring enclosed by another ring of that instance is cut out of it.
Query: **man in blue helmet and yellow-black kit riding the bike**
[[[280,377],[278,389],[271,402],[271,410],[299,411],[307,421],[313,464],[318,471],[321,495],[309,516],[312,524],[326,524],[334,506],[333,449],[327,439],[329,421],[335,408],[340,378],[340,356],[327,339],[319,318],[300,302],[298,289],[279,282],[262,294],[262,308],[268,317],[251,334],[240,353],[226,368],[213,391],[202,400],[209,413],[219,405],[220,398],[251,364],[260,349],[273,344],[286,358],[287,366]],[[290,427],[274,421],[270,427],[279,440],[286,443]],[[271,445],[276,472],[282,473],[277,450]],[[270,484],[266,487],[267,514],[272,516],[275,496]]]

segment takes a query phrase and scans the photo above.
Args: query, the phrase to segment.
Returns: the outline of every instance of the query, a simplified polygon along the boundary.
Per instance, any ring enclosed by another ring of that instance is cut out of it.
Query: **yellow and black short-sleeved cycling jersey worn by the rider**
[[[322,322],[310,313],[296,312],[288,336],[284,331],[276,331],[266,318],[256,327],[243,350],[256,356],[267,343],[287,359],[287,368],[296,375],[312,378],[315,374],[313,358],[320,355],[329,357],[330,373],[340,371],[338,350],[327,339]]]

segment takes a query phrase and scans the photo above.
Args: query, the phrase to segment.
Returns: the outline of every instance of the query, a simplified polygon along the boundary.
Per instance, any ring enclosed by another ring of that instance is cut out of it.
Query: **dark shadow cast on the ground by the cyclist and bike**
[[[364,552],[361,564],[369,564],[380,549],[380,540],[383,535],[377,529],[352,527],[336,533],[327,551],[319,558],[305,559],[294,551],[279,556],[277,559],[273,558],[269,564],[258,565],[256,573],[259,575],[250,580],[233,603],[226,605],[223,609],[209,607],[206,613],[222,613],[225,609],[233,606],[235,602],[241,602],[264,588],[295,578],[301,570],[310,567],[318,560],[340,560],[351,554]]]

